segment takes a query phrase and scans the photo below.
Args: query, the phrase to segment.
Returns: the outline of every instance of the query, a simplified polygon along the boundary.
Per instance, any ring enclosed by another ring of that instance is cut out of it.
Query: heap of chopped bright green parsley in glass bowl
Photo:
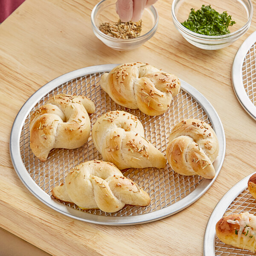
[[[230,33],[228,27],[235,23],[227,12],[220,14],[210,5],[202,5],[201,9],[197,11],[192,8],[189,18],[181,24],[192,32],[201,35],[226,35]]]

